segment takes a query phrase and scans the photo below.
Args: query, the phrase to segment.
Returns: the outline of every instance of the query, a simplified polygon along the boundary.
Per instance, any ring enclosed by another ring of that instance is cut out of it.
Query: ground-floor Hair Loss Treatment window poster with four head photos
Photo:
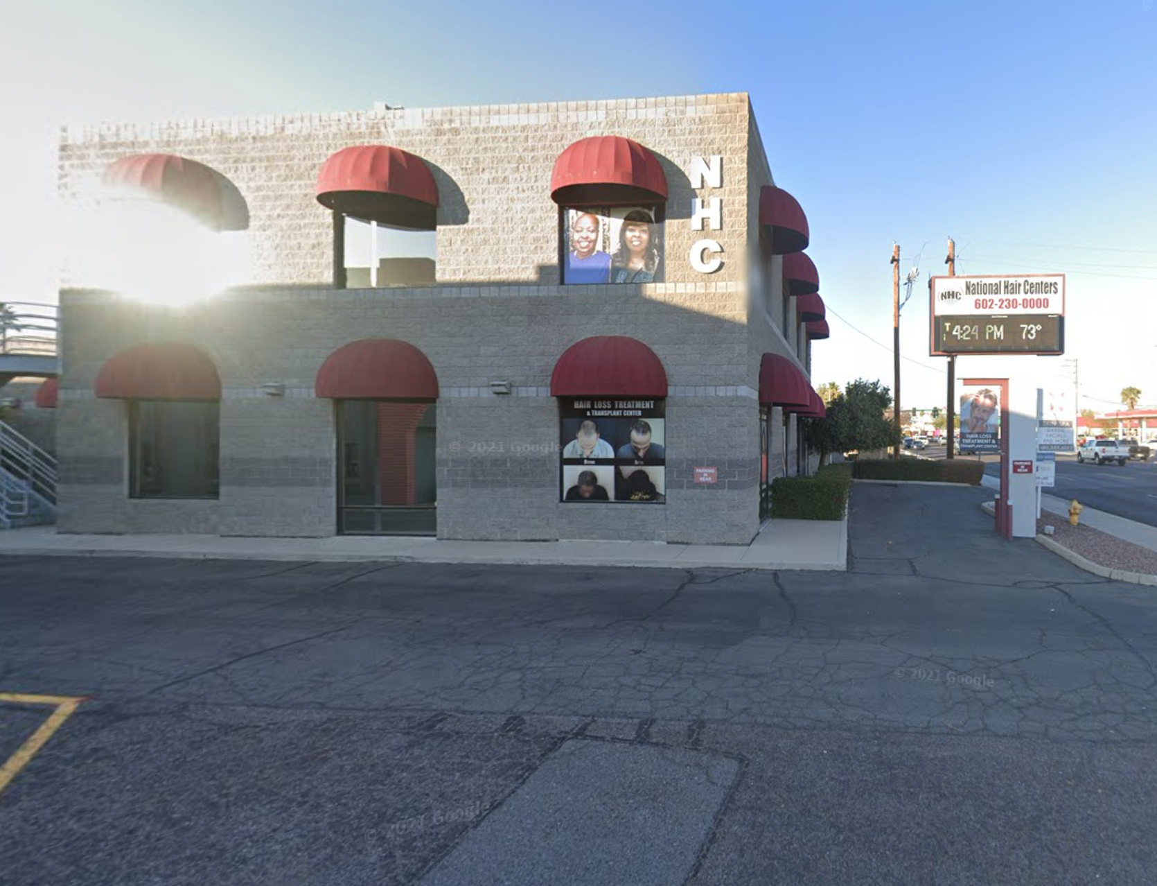
[[[666,501],[662,400],[559,401],[563,501]]]

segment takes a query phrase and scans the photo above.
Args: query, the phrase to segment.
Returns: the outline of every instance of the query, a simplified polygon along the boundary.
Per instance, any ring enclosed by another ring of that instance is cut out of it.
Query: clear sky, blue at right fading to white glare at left
[[[66,123],[747,91],[811,227],[817,386],[892,387],[894,242],[920,272],[902,407],[943,407],[927,279],[951,236],[957,273],[1068,284],[1064,358],[958,376],[1076,374],[1082,408],[1127,386],[1157,405],[1155,0],[40,0],[3,5],[0,66],[0,299],[56,300]]]

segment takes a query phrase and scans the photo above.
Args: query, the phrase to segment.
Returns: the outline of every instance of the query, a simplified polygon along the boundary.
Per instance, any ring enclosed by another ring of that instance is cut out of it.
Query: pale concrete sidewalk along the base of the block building
[[[65,535],[51,526],[0,532],[0,556],[137,556],[264,561],[400,561],[578,566],[846,571],[848,521],[771,520],[749,545],[629,541],[479,542],[338,535]]]

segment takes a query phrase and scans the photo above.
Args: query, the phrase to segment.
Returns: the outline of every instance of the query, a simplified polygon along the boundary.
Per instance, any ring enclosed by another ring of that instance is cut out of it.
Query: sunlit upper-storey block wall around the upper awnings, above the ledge
[[[317,203],[323,163],[352,145],[381,144],[426,161],[439,185],[439,283],[557,284],[554,161],[588,136],[619,134],[650,148],[669,184],[666,279],[691,280],[686,255],[702,236],[686,219],[694,156],[724,155],[722,196],[730,240],[721,279],[739,279],[744,243],[745,93],[469,108],[386,109],[66,130],[60,188],[66,205],[90,202],[103,169],[135,153],[172,153],[229,178],[249,204],[250,283],[330,285],[332,221]],[[680,221],[681,220],[681,224]],[[724,239],[727,240],[727,239]],[[66,286],[91,285],[66,279]]]

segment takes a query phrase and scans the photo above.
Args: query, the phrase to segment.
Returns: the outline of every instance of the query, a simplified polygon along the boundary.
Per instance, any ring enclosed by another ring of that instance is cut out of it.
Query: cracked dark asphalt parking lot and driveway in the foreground
[[[0,558],[0,691],[91,696],[2,879],[1155,883],[1157,600],[988,497],[857,485],[847,573]]]

